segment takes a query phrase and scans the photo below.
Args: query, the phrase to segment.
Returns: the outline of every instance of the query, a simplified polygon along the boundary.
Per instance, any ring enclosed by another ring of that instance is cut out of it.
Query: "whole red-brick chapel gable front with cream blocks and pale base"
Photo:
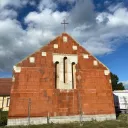
[[[8,125],[115,119],[109,69],[67,33],[13,68]]]

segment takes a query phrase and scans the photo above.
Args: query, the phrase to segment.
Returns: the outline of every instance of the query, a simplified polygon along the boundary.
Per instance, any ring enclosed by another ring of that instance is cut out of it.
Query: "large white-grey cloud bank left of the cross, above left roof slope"
[[[60,30],[60,21],[65,15],[66,12],[52,12],[50,9],[31,12],[25,18],[26,30],[11,17],[0,20],[0,69],[12,69],[15,63],[55,38],[56,29]]]

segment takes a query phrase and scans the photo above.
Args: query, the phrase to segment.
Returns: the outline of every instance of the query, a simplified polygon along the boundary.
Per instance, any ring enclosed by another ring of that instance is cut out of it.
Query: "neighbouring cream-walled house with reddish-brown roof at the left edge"
[[[9,110],[12,78],[0,78],[0,109]]]

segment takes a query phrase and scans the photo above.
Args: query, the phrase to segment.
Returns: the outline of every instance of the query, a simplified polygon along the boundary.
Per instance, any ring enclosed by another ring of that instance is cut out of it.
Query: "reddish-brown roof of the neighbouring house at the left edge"
[[[12,78],[0,78],[0,96],[9,96],[11,86]]]

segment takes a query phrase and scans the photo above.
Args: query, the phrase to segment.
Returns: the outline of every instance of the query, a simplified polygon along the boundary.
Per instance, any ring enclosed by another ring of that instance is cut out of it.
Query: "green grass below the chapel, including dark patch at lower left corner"
[[[2,116],[0,117],[0,128],[6,127],[5,126],[6,121],[7,121],[7,112],[2,112]],[[115,121],[102,121],[102,122],[90,121],[90,122],[83,122],[82,124],[80,124],[79,122],[69,123],[69,124],[52,123],[52,124],[31,125],[31,126],[10,126],[7,128],[28,128],[28,127],[29,128],[128,128],[128,114],[120,114],[118,119]]]

